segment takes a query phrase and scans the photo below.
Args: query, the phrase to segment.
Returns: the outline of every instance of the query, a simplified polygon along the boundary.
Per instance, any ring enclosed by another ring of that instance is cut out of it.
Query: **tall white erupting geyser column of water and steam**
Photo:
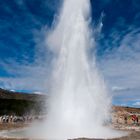
[[[106,128],[110,98],[98,74],[90,23],[89,0],[64,0],[60,17],[47,36],[55,53],[50,80],[47,119],[33,136],[47,139],[101,138],[116,133]]]

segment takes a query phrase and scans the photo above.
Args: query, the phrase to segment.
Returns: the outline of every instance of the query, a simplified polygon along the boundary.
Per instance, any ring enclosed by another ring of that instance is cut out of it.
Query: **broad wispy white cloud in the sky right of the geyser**
[[[100,68],[114,97],[122,102],[140,98],[140,29],[114,29],[104,43],[108,47]]]

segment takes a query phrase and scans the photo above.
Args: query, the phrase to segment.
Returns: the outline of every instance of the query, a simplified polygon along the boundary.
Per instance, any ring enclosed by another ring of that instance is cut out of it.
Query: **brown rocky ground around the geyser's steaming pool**
[[[132,115],[136,115],[138,117],[139,120],[138,123],[132,120]],[[125,120],[125,118],[127,119]],[[0,123],[0,131],[19,129],[27,126],[28,124],[25,123]],[[121,138],[106,139],[106,140],[140,140],[140,109],[129,107],[113,107],[111,127],[113,127],[114,129],[122,130],[124,132],[128,132],[128,135]],[[0,138],[0,140],[27,140],[27,139]],[[97,139],[79,138],[75,140],[97,140]]]

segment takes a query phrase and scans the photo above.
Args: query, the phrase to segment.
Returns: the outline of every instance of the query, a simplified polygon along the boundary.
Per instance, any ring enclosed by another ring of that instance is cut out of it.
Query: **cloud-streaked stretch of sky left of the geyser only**
[[[58,1],[40,0],[39,4],[40,7],[24,0],[3,2],[1,10],[4,13],[0,14],[0,68],[6,74],[0,73],[1,88],[47,92],[51,52],[46,47],[45,38],[47,23],[52,22]],[[1,20],[1,16],[5,19]]]

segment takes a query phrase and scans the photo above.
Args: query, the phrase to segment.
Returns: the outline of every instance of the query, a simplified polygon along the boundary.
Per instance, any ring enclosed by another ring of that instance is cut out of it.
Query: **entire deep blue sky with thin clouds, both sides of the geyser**
[[[52,53],[44,40],[61,4],[62,0],[0,0],[1,88],[47,91],[44,77]],[[113,103],[140,107],[140,1],[91,0],[91,8],[97,65]]]

